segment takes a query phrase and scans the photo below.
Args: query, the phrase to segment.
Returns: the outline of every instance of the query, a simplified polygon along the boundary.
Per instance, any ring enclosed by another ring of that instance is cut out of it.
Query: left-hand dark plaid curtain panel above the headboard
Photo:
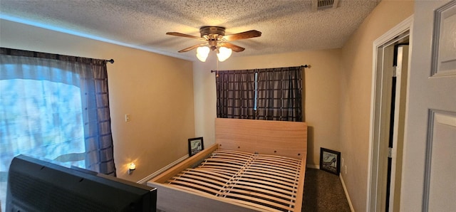
[[[233,119],[254,119],[255,71],[218,71],[217,117]]]

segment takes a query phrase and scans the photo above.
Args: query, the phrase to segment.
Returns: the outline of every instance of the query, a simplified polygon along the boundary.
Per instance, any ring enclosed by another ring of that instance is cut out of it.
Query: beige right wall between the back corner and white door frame
[[[383,0],[342,48],[341,173],[355,211],[366,211],[373,41],[413,14],[413,1]]]

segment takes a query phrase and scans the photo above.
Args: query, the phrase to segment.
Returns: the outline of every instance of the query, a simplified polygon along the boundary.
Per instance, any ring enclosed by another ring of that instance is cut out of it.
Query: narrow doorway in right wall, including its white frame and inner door
[[[407,79],[410,71],[408,43],[412,24],[413,17],[409,17],[374,41],[366,211],[398,211],[400,206]],[[394,99],[393,79],[396,82]]]

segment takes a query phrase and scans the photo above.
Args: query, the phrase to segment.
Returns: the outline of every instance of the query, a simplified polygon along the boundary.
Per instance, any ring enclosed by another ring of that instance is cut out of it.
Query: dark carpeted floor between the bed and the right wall
[[[339,176],[306,169],[302,211],[351,211]]]

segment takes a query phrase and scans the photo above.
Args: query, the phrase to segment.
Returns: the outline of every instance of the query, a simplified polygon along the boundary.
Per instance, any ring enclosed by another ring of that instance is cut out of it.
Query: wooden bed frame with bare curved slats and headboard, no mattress
[[[147,185],[158,211],[301,211],[306,153],[305,122],[217,118],[214,145]]]

